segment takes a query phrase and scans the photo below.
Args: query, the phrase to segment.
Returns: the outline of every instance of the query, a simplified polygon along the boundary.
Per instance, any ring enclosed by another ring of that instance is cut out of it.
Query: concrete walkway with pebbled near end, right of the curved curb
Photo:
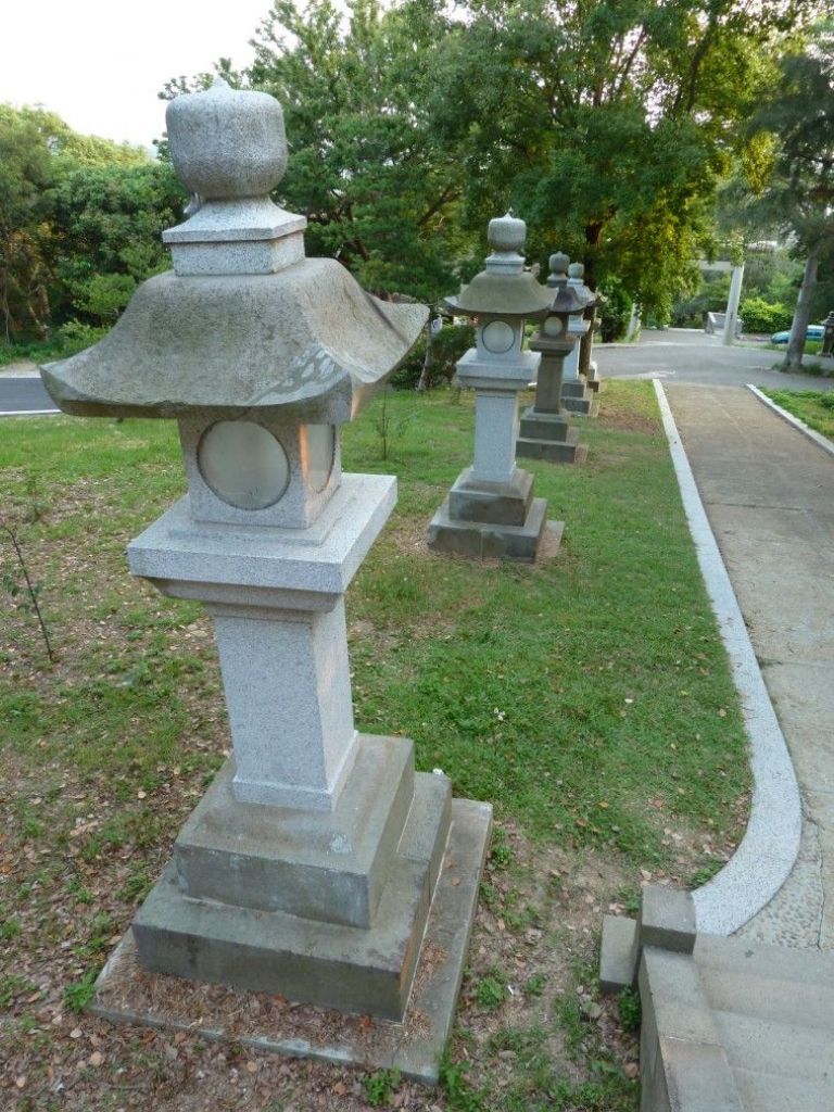
[[[787,882],[739,934],[834,949],[834,456],[736,386],[665,383],[800,782]],[[778,823],[778,815],[774,815]]]

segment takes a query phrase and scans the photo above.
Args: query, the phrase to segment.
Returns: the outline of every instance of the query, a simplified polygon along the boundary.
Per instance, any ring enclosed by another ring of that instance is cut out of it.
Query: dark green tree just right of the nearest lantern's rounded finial
[[[426,108],[446,21],[433,0],[346,7],[276,0],[256,34],[246,79],[278,98],[290,146],[279,200],[308,216],[310,254],[384,297],[434,300],[468,249],[464,169]]]

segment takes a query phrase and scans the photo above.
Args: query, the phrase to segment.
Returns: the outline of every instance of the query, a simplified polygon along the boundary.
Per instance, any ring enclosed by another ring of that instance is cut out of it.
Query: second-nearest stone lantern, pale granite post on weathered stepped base
[[[533,497],[533,476],[516,466],[518,393],[540,360],[524,350],[524,321],[553,304],[553,291],[524,269],[526,234],[509,214],[490,220],[486,268],[444,301],[454,316],[473,318],[476,346],[457,363],[459,381],[475,389],[475,457],[431,519],[428,543],[441,552],[532,560],[545,528],[547,503]]]

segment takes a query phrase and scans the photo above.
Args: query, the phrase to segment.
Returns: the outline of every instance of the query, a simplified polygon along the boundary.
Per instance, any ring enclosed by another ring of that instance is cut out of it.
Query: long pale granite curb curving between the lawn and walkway
[[[751,741],[753,798],[746,833],[721,872],[693,893],[698,931],[732,934],[772,900],[793,868],[800,852],[802,805],[787,745],[666,394],[657,379],[654,385],[701,573],[729,657]]]

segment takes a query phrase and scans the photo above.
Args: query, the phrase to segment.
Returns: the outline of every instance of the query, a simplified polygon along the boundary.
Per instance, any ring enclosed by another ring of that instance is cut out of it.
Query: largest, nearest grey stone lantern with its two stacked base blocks
[[[167,122],[198,198],[165,232],[173,271],[100,344],[43,368],[67,413],[178,421],[188,494],[130,544],[130,568],[202,600],[217,633],[234,755],[133,921],[139,960],[400,1020],[440,903],[458,924],[448,1021],[490,808],[415,774],[410,741],[355,728],[345,592],[396,480],[342,474],[338,435],[427,314],[305,258],[306,220],[268,196],[287,161],[272,97],[217,81]],[[471,883],[448,887],[447,853]]]

